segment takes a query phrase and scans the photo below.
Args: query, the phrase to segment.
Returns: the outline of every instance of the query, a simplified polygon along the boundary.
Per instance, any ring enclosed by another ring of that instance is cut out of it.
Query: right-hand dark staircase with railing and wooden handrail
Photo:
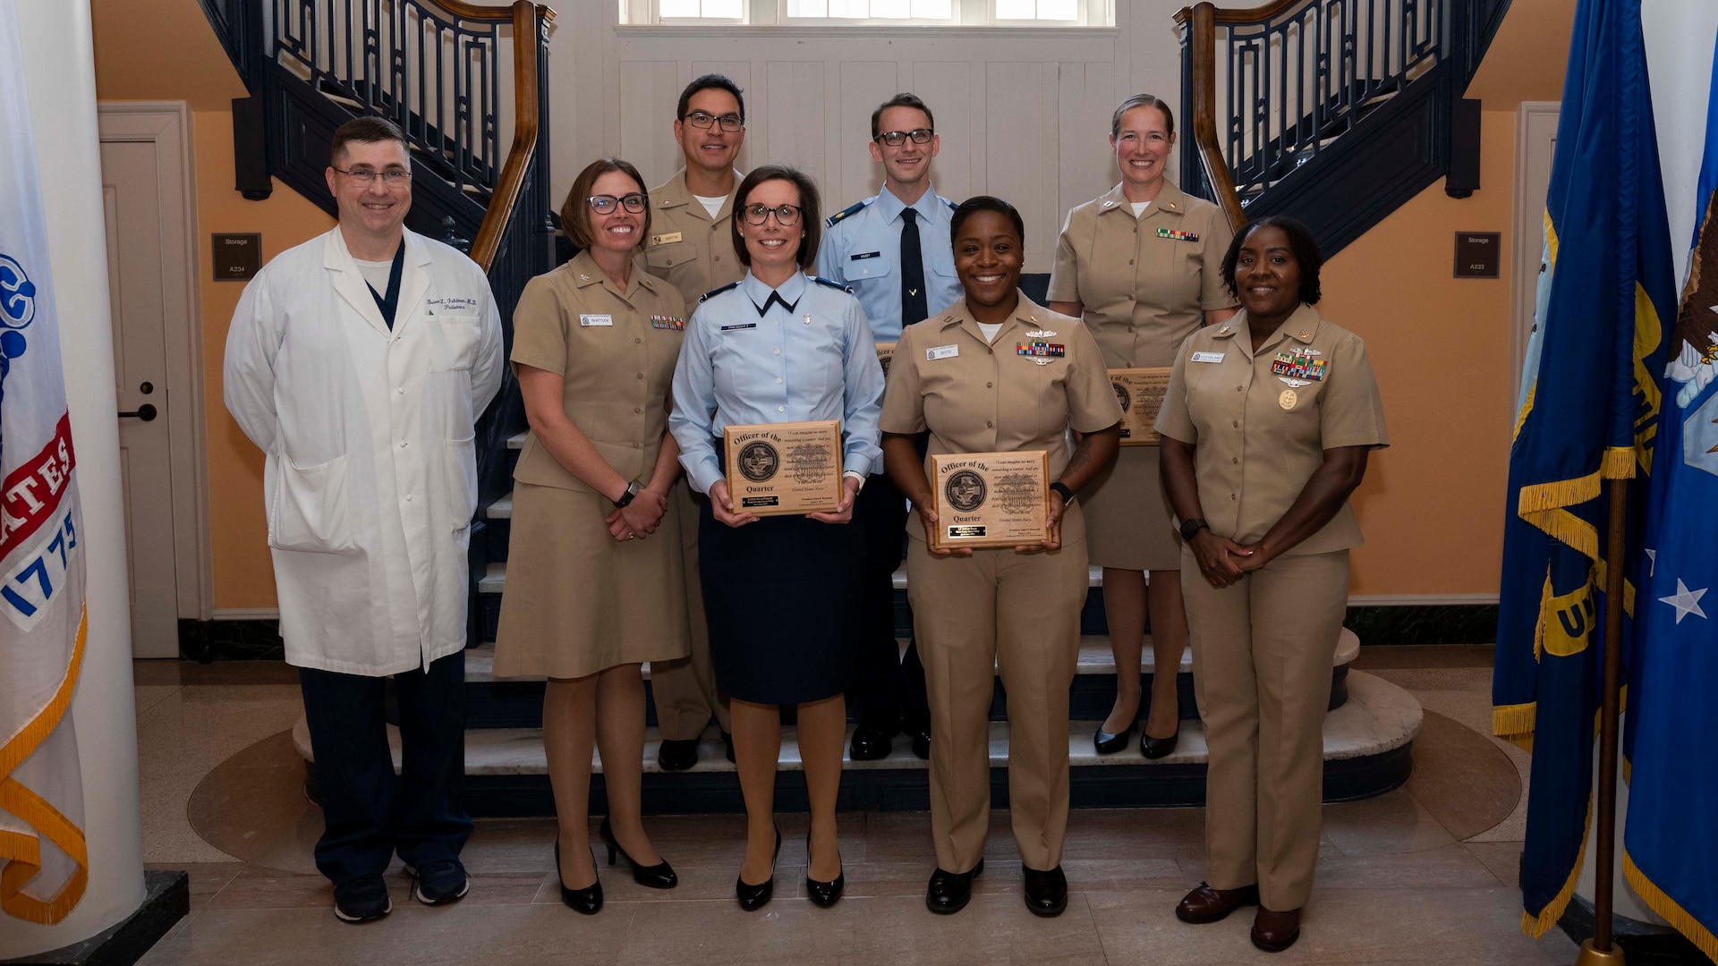
[[[1477,182],[1477,101],[1462,91],[1508,0],[1276,0],[1175,14],[1182,187],[1251,218],[1306,222],[1325,258],[1448,177]]]

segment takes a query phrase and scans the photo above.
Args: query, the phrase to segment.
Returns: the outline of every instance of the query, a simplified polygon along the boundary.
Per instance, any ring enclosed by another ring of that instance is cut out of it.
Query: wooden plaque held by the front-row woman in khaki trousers
[[[967,452],[931,455],[936,531],[931,547],[1043,543],[1050,519],[1050,454]]]

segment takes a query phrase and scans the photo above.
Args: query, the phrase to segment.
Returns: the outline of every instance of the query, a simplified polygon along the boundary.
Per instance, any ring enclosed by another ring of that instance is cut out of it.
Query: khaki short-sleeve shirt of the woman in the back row
[[[1235,304],[1221,273],[1234,234],[1221,208],[1167,180],[1134,218],[1117,184],[1069,211],[1050,301],[1084,306],[1106,366],[1168,366],[1206,309]]]

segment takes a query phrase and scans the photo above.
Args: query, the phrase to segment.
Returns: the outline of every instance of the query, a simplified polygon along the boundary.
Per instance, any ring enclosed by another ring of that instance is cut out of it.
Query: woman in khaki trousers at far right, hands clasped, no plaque
[[[1318,859],[1330,662],[1361,543],[1349,493],[1390,445],[1366,345],[1313,308],[1321,263],[1301,222],[1247,225],[1221,268],[1242,311],[1182,345],[1156,423],[1182,569],[1203,578],[1185,591],[1209,746],[1209,878],[1175,914],[1258,904],[1270,952],[1299,938]]]

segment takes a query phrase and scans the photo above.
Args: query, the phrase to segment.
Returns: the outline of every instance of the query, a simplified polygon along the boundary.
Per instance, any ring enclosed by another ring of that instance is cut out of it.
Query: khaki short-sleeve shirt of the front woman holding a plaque
[[[1060,354],[1026,354],[1034,342]],[[1043,359],[1046,364],[1038,364]],[[966,299],[902,330],[880,423],[885,433],[929,430],[926,455],[1046,450],[1053,481],[1069,462],[1069,426],[1094,433],[1120,419],[1103,352],[1086,325],[1020,296],[995,342],[984,340]],[[929,461],[924,466],[928,473]],[[907,533],[924,540],[917,514]],[[1062,517],[1062,541],[1084,536],[1075,502]]]

